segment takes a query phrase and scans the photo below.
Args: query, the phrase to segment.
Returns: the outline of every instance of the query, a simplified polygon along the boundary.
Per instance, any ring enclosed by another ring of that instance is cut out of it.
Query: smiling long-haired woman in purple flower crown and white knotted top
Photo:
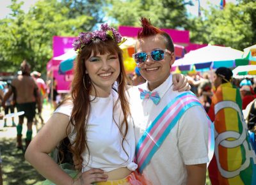
[[[81,33],[71,96],[54,111],[29,144],[25,158],[47,181],[43,184],[147,184],[134,172],[136,142],[129,110],[122,37],[107,24]],[[179,78],[179,76],[178,76]],[[186,82],[179,78],[180,87]],[[114,89],[113,85],[118,88]],[[63,138],[81,167],[66,173],[49,153]]]

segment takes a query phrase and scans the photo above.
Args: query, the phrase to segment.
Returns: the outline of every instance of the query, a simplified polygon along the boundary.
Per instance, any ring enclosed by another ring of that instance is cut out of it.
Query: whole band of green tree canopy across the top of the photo
[[[190,5],[189,5],[190,4]],[[41,0],[28,12],[12,0],[12,14],[0,19],[0,71],[17,71],[26,59],[45,71],[52,57],[52,36],[77,36],[99,23],[140,26],[140,17],[157,27],[187,29],[192,43],[225,45],[239,50],[256,43],[256,1],[237,0],[223,10],[212,6],[202,17],[189,17],[185,0]]]

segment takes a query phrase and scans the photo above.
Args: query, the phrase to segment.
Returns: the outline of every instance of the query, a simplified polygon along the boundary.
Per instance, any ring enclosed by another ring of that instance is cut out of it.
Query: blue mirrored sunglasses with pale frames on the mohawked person
[[[138,52],[136,54],[133,54],[132,57],[134,58],[137,64],[145,63],[145,61],[147,61],[148,56],[150,56],[151,59],[153,59],[154,61],[162,61],[164,59],[164,54],[166,52],[172,54],[172,52],[170,52],[168,49],[156,49],[152,50],[150,54],[147,54],[146,52]]]

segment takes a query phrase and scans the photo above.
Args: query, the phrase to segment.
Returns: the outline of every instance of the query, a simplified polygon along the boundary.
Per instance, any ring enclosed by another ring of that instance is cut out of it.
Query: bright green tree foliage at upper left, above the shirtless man
[[[38,1],[28,13],[12,1],[12,17],[0,20],[0,71],[17,71],[26,59],[32,70],[45,71],[52,57],[52,36],[77,36],[92,17],[68,18],[68,8],[57,0]]]

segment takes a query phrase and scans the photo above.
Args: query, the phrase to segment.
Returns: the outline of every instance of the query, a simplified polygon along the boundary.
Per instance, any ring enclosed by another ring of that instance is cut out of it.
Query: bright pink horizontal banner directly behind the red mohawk
[[[119,26],[118,31],[122,34],[122,36],[127,37],[136,37],[138,31],[141,27],[131,27],[131,26]],[[176,29],[161,29],[168,33],[174,43],[189,43],[189,31],[182,31]]]

